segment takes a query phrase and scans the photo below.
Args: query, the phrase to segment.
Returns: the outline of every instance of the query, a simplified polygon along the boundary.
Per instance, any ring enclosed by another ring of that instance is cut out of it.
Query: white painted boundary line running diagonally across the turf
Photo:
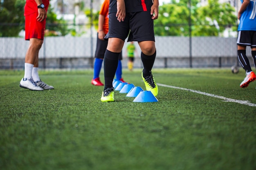
[[[256,104],[253,104],[253,103],[251,103],[250,101],[247,101],[247,100],[236,100],[236,99],[231,99],[231,98],[227,98],[227,97],[223,97],[223,96],[213,95],[213,94],[210,94],[210,93],[205,93],[205,92],[202,92],[202,91],[195,91],[195,90],[192,90],[192,89],[189,89],[189,88],[169,86],[169,85],[166,85],[166,84],[157,83],[157,86],[176,88],[176,89],[180,89],[180,90],[184,90],[184,91],[191,91],[191,92],[198,93],[198,94],[201,94],[201,95],[207,95],[207,96],[223,99],[222,102],[234,102],[234,103],[245,104],[245,105],[248,105],[248,106],[256,107]]]

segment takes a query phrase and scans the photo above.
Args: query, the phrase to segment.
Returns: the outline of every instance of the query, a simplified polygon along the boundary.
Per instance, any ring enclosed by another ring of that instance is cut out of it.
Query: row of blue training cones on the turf
[[[114,90],[119,91],[119,93],[127,93],[126,97],[135,97],[132,102],[158,102],[153,93],[143,91],[139,86],[135,87],[133,84],[114,79],[113,87]]]

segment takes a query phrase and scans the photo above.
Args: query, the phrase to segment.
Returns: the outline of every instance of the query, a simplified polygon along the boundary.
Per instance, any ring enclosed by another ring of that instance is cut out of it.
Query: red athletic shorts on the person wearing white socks
[[[30,38],[44,39],[46,19],[42,22],[37,21],[38,13],[25,16],[25,40]]]

